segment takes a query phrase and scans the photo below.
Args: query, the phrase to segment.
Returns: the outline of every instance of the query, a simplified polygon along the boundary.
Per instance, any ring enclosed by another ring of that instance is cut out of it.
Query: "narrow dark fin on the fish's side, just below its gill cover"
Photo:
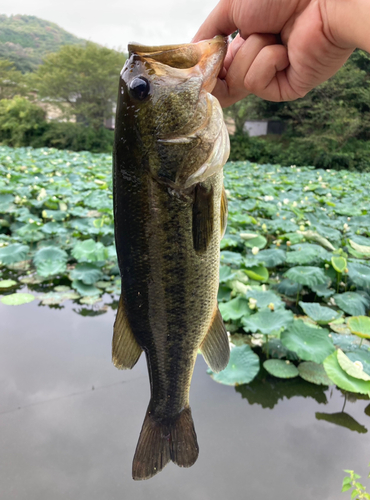
[[[196,252],[205,252],[213,231],[213,189],[197,184],[193,205],[193,246]]]

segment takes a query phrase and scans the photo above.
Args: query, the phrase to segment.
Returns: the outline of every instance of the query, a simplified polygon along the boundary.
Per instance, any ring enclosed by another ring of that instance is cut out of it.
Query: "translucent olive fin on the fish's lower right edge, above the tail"
[[[218,307],[200,350],[213,372],[220,372],[227,366],[230,357],[229,339]]]

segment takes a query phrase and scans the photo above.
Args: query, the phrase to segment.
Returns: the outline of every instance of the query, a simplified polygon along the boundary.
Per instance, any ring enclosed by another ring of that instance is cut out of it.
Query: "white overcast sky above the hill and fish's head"
[[[126,50],[189,42],[217,0],[2,0],[0,14],[27,14],[80,38]]]

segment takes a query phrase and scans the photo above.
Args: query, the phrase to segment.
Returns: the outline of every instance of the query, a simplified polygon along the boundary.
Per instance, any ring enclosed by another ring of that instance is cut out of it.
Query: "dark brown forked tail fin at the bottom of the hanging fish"
[[[132,477],[149,479],[170,460],[179,467],[191,467],[199,448],[190,406],[174,418],[157,422],[147,412],[132,464]]]

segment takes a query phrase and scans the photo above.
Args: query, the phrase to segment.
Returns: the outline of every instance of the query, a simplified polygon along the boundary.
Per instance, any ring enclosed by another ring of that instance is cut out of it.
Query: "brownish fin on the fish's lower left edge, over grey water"
[[[113,327],[113,363],[121,370],[132,368],[140,358],[141,352],[142,349],[131,331],[121,297]]]

